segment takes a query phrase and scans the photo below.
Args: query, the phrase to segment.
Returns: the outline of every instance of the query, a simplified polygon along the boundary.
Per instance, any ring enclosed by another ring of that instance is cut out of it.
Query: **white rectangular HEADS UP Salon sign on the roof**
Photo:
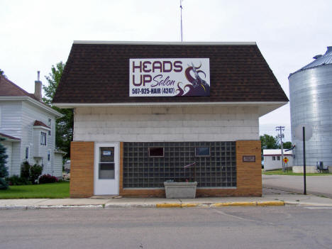
[[[209,58],[130,59],[129,96],[210,96]]]

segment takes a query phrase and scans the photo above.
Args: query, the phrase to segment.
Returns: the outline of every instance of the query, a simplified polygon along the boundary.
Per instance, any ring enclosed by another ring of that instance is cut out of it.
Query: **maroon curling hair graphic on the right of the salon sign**
[[[195,67],[194,63],[192,63],[192,66],[188,65],[187,70],[184,71],[184,74],[191,84],[186,84],[183,88],[180,87],[179,82],[177,84],[177,90],[175,92],[178,92],[175,96],[209,96],[210,95],[210,86],[206,83],[204,79],[201,79],[199,76],[199,73],[204,74],[204,78],[206,78],[206,74],[204,71],[199,70],[201,68],[201,65],[199,67]],[[198,70],[198,71],[197,71]],[[194,73],[194,77],[190,74],[190,72]],[[189,89],[189,91],[184,91]]]

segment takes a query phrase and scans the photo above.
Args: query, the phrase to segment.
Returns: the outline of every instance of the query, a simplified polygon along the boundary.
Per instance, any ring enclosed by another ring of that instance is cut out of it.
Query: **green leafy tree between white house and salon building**
[[[48,80],[48,85],[43,85],[45,96],[43,101],[45,104],[51,106],[52,100],[59,85],[62,72],[65,69],[65,63],[59,62],[56,66],[52,65],[51,72],[45,78]],[[65,151],[66,157],[70,157],[70,141],[72,141],[72,133],[74,131],[74,114],[72,109],[60,109],[52,106],[52,109],[59,111],[64,116],[58,118],[55,125],[55,147]]]

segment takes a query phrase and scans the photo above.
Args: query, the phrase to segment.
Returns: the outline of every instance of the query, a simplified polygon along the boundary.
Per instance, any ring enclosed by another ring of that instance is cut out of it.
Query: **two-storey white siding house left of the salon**
[[[35,89],[29,94],[0,76],[0,137],[9,155],[6,166],[9,175],[20,175],[21,163],[27,160],[43,165],[43,174],[62,177],[62,164],[55,163],[55,119],[62,114],[43,104],[39,80]]]

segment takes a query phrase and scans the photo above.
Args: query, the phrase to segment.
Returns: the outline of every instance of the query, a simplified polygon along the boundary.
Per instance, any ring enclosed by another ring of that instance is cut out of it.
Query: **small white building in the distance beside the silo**
[[[264,171],[267,170],[279,170],[282,169],[282,152],[281,150],[263,150],[264,156]],[[287,157],[287,167],[293,166],[293,154],[292,150],[285,151],[284,157]]]

